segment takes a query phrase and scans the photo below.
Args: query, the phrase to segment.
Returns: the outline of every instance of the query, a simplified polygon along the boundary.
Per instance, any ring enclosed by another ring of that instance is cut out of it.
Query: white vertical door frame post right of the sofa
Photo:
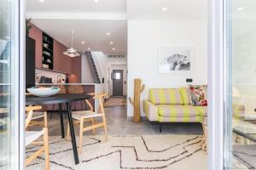
[[[227,111],[226,0],[208,0],[208,169],[223,170]]]

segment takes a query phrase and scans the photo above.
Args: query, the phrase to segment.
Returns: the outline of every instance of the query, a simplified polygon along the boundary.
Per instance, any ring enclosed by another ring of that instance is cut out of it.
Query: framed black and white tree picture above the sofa
[[[158,48],[159,73],[189,73],[192,62],[192,48]]]

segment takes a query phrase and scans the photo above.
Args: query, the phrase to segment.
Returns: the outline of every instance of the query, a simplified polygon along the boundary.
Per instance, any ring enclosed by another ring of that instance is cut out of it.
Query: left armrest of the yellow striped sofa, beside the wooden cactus
[[[143,111],[149,121],[158,121],[158,107],[147,99],[143,100]]]

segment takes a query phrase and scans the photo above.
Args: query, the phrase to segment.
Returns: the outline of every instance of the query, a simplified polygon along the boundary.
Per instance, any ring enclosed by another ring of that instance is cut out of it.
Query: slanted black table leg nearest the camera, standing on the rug
[[[75,161],[75,164],[79,164],[79,154],[78,154],[78,149],[77,149],[76,137],[75,137],[75,133],[74,133],[74,129],[73,129],[71,103],[67,103],[67,117],[68,117],[71,141],[72,141],[72,146],[73,146],[74,161]]]

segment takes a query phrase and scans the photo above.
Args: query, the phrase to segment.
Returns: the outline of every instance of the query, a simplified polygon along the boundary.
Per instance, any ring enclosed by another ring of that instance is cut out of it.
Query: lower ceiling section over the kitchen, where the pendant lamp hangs
[[[73,47],[76,49],[88,51],[90,48],[105,54],[126,55],[126,20],[34,19],[32,23],[67,47],[71,46],[70,31],[74,31]],[[107,32],[111,33],[110,36],[106,35]],[[111,41],[113,44],[110,44]]]

